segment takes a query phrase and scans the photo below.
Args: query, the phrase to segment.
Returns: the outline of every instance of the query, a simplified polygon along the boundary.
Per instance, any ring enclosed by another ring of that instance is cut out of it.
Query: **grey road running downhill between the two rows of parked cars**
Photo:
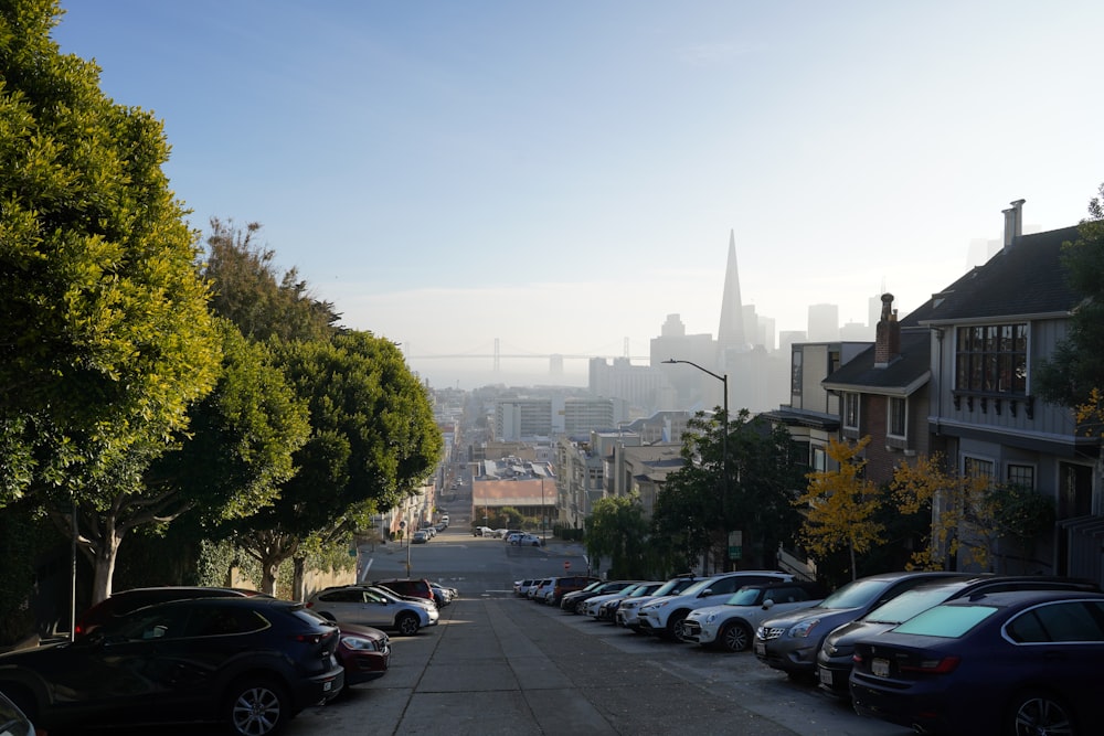
[[[440,623],[392,634],[386,675],[308,708],[290,736],[380,734],[751,734],[904,736],[860,718],[749,653],[659,641],[513,597],[514,579],[585,572],[577,545],[510,547],[453,527],[380,547],[372,578],[411,574],[459,588]]]

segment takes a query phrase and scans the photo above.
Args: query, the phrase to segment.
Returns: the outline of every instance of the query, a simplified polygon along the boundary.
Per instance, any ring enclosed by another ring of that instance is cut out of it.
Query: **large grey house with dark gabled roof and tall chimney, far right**
[[[1061,258],[1078,228],[1025,235],[1022,205],[1012,202],[1004,213],[999,253],[910,314],[930,332],[931,450],[964,476],[1053,498],[1055,533],[1028,550],[998,551],[998,569],[1104,585],[1104,509],[1094,472],[1100,440],[1079,435],[1070,409],[1043,402],[1032,385],[1081,301]]]

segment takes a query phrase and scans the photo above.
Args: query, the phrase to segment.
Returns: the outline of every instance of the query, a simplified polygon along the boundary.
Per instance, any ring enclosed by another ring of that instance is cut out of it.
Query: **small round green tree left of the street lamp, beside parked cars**
[[[586,523],[586,552],[595,567],[607,557],[612,578],[649,575],[648,522],[638,495],[599,499]]]

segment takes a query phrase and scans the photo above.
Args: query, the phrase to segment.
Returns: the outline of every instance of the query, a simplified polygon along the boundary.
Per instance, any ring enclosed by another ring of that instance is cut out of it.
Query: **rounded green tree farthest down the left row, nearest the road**
[[[425,390],[390,340],[351,331],[331,341],[278,342],[274,350],[309,406],[310,437],[296,451],[298,472],[282,484],[279,499],[227,524],[261,564],[266,591],[308,537],[351,534],[367,514],[415,493],[443,447]]]

